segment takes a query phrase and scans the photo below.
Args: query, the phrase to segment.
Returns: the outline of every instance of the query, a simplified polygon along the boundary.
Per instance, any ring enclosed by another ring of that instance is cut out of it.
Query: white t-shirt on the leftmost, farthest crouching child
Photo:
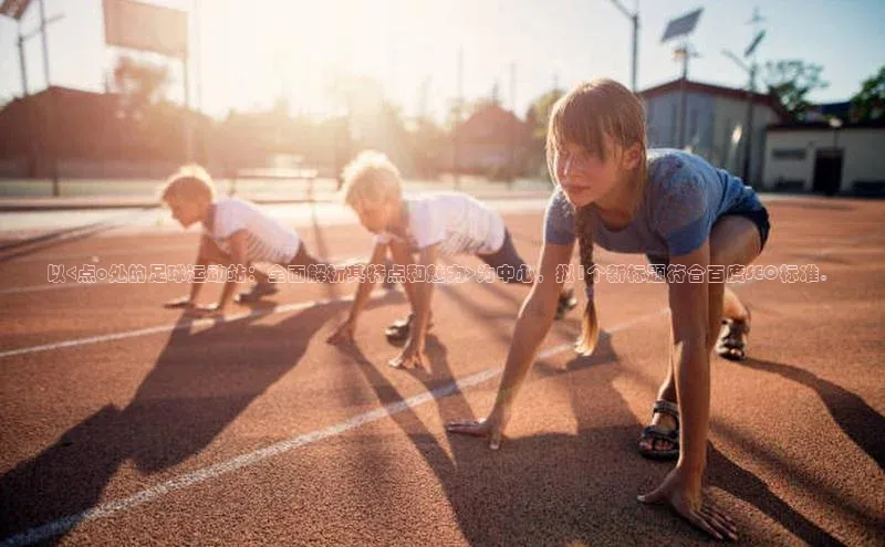
[[[215,202],[212,229],[206,230],[215,242],[231,254],[230,236],[246,231],[246,261],[289,263],[299,250],[301,239],[248,201],[225,198]]]

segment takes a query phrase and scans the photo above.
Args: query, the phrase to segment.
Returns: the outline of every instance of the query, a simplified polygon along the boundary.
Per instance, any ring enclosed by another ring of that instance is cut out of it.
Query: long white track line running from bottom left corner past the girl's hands
[[[605,329],[605,332],[608,334],[615,334],[617,332],[629,328],[631,326],[642,323],[644,320],[657,317],[667,309],[668,308],[662,308],[658,312],[636,317],[628,322],[624,322],[611,328],[607,328]],[[554,346],[544,351],[541,351],[538,355],[538,359],[549,359],[555,355],[571,350],[573,348],[574,346],[572,344],[561,344],[559,346]],[[369,412],[354,415],[347,420],[344,420],[343,422],[339,422],[325,429],[315,430],[311,431],[310,433],[303,433],[296,436],[292,436],[284,441],[271,444],[270,446],[266,446],[263,449],[259,449],[253,452],[239,455],[226,462],[221,462],[216,465],[211,465],[209,467],[204,467],[201,470],[179,475],[164,483],[137,492],[129,497],[94,506],[81,513],[69,515],[59,518],[58,520],[44,524],[42,526],[30,528],[25,532],[22,532],[21,534],[9,536],[2,543],[0,543],[0,547],[19,547],[19,546],[35,544],[39,541],[44,541],[53,536],[64,534],[65,532],[70,530],[80,523],[111,517],[115,513],[137,507],[144,503],[163,497],[166,494],[170,494],[179,490],[185,490],[190,486],[196,486],[200,483],[210,481],[212,478],[217,478],[221,475],[226,475],[233,471],[254,465],[270,457],[278,456],[287,452],[291,452],[292,450],[300,449],[302,446],[306,446],[308,444],[312,444],[317,441],[322,441],[324,439],[339,436],[347,431],[360,428],[367,423],[376,422],[384,418],[398,414],[400,412],[404,412],[406,410],[416,407],[420,407],[421,404],[425,404],[427,402],[441,399],[444,397],[448,397],[449,395],[456,391],[465,391],[469,388],[479,386],[480,383],[483,383],[499,376],[502,371],[503,367],[497,367],[483,370],[481,372],[470,375],[461,380],[449,382],[433,391],[425,391],[408,399],[394,402],[392,404],[387,404],[386,407],[382,407],[379,409],[372,410]]]

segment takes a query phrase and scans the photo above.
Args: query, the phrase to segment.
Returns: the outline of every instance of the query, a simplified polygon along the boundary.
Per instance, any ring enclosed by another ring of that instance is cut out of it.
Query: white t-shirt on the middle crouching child
[[[406,242],[413,251],[438,244],[442,255],[492,254],[504,243],[500,214],[465,193],[446,192],[404,199],[408,219]],[[384,232],[377,243],[400,239]]]

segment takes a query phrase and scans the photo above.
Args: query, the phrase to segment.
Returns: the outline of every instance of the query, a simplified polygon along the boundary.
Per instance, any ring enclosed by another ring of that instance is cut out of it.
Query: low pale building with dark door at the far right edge
[[[773,124],[766,139],[766,190],[885,193],[885,119]]]

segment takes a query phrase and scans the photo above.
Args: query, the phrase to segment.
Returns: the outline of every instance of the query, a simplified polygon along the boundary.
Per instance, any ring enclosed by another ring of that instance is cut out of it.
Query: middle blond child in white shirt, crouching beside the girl
[[[431,272],[440,255],[472,254],[491,266],[507,283],[531,286],[534,272],[517,253],[503,219],[480,201],[464,193],[440,193],[404,199],[399,171],[386,156],[364,151],[344,169],[344,200],[360,222],[376,234],[369,267],[383,263],[389,248],[399,265],[417,265]],[[417,263],[413,255],[418,255]],[[394,367],[421,365],[424,341],[430,325],[433,280],[428,275],[406,276],[406,293],[412,314],[387,328],[388,338],[406,339],[402,354],[391,360]],[[365,276],[356,292],[347,320],[329,338],[330,343],[353,339],[356,319],[376,280]],[[563,291],[559,315],[577,304],[571,290]]]

